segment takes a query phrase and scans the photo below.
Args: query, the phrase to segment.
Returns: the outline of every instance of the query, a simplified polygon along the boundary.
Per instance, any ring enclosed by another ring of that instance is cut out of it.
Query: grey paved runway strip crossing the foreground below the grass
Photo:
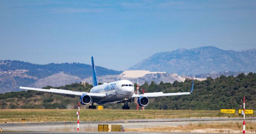
[[[113,121],[80,121],[80,131],[96,131],[99,124],[123,125],[128,128],[173,127],[190,123],[243,122],[243,118],[168,118],[168,119],[130,119]],[[256,122],[256,117],[246,118],[246,122]],[[0,123],[4,131],[77,131],[77,121],[56,122],[16,122]],[[49,132],[50,133],[50,132]],[[90,132],[88,132],[90,133]],[[93,133],[93,132],[91,132]],[[140,132],[142,133],[142,132]],[[145,132],[144,132],[145,133]]]

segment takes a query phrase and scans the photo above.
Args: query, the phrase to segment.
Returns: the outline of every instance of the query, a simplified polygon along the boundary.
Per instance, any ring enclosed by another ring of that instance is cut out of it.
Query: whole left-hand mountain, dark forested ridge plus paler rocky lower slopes
[[[120,74],[122,71],[96,66],[97,76]],[[21,61],[0,61],[0,93],[20,91],[11,78],[14,76],[19,86],[44,87],[61,86],[80,82],[92,75],[92,66],[80,63],[38,65]]]

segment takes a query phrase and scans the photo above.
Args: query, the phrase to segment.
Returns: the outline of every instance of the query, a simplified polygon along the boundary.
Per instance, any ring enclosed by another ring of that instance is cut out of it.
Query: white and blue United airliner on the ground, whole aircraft
[[[89,92],[71,91],[71,90],[54,89],[54,88],[42,89],[42,88],[17,86],[12,76],[13,83],[16,87],[20,89],[48,92],[52,94],[63,95],[66,97],[73,97],[73,98],[80,97],[79,101],[81,104],[83,105],[91,104],[89,105],[89,109],[96,109],[96,106],[94,106],[93,103],[97,103],[97,104],[124,103],[123,109],[130,109],[130,107],[128,106],[128,102],[134,101],[134,98],[138,98],[137,100],[138,105],[141,107],[144,107],[149,103],[150,98],[173,96],[173,95],[189,95],[193,91],[194,80],[192,82],[192,87],[190,92],[177,92],[177,93],[151,92],[151,93],[144,93],[144,94],[135,94],[133,83],[125,79],[98,85],[93,57],[91,57],[91,61],[92,61],[93,87]]]

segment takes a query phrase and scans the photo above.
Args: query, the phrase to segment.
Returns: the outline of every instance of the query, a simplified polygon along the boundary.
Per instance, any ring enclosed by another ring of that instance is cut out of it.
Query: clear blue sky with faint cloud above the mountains
[[[0,0],[0,60],[125,70],[202,46],[256,48],[256,1]]]

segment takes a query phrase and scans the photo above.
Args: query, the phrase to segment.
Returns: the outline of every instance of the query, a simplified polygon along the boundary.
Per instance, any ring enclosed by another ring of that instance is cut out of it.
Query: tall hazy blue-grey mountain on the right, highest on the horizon
[[[221,50],[216,47],[178,49],[156,53],[127,70],[149,70],[197,75],[224,71],[255,72],[256,49],[244,51]]]

